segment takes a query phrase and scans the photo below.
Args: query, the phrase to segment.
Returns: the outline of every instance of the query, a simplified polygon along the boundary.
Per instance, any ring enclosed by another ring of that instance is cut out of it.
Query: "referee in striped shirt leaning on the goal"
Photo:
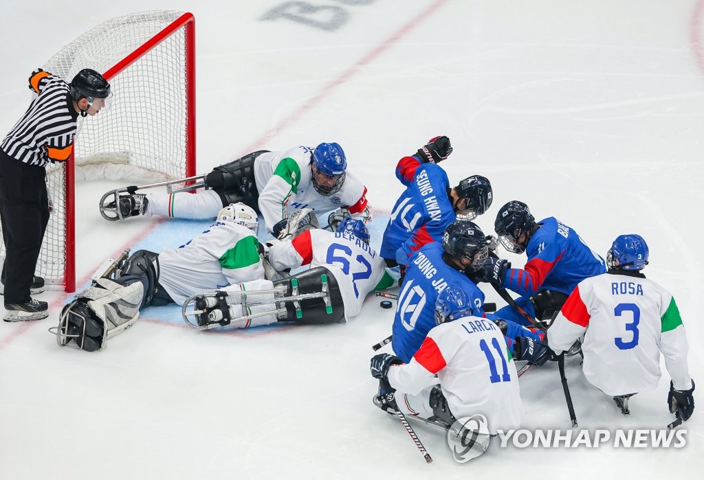
[[[78,115],[96,115],[110,96],[110,84],[95,70],[84,69],[71,84],[39,69],[30,76],[36,93],[30,108],[0,144],[0,221],[5,264],[6,322],[49,316],[46,301],[30,297],[44,290],[34,276],[49,222],[46,165],[65,162],[73,152]]]

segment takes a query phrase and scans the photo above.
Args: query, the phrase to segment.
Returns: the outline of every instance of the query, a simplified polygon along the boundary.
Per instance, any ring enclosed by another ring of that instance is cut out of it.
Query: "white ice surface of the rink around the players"
[[[369,189],[378,246],[402,191],[396,162],[447,135],[451,182],[482,174],[494,186],[477,219],[485,233],[501,205],[522,200],[603,257],[617,235],[643,235],[645,273],[677,299],[691,375],[704,382],[704,0],[6,2],[2,136],[27,108],[35,67],[104,20],[157,9],[196,16],[200,173],[252,150],[338,142]],[[104,221],[99,197],[119,186],[77,187],[79,288],[122,249],[180,245],[207,225]],[[460,465],[444,436],[413,424],[426,464],[401,423],[372,406],[371,346],[394,315],[378,297],[347,325],[225,332],[151,308],[96,353],[60,348],[48,332],[68,294],[38,298],[48,319],[0,323],[1,479],[655,479],[704,467],[700,389],[684,448],[492,441]],[[674,420],[664,363],[658,389],[624,417],[578,358],[566,362],[577,430]],[[520,382],[524,428],[570,429],[555,363]]]

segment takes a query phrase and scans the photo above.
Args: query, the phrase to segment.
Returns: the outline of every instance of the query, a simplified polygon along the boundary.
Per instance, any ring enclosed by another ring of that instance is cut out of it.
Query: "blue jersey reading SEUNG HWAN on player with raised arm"
[[[379,254],[384,259],[402,257],[405,264],[423,245],[442,240],[445,228],[455,221],[455,210],[448,197],[450,181],[438,165],[403,157],[396,167],[396,176],[406,191],[394,205]],[[401,252],[397,255],[398,249]]]

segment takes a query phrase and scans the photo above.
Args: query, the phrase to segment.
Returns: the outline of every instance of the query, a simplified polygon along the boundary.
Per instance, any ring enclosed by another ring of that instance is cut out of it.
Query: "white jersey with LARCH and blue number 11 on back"
[[[389,384],[403,394],[420,394],[438,380],[455,418],[482,414],[491,434],[520,427],[518,374],[491,320],[466,316],[438,325],[410,363],[389,368]]]

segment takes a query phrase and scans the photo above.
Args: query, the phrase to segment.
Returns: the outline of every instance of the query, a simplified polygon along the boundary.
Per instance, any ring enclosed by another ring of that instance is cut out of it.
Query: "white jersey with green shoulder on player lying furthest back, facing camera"
[[[315,190],[310,170],[313,150],[303,146],[289,148],[263,153],[254,160],[258,205],[270,233],[278,221],[291,216],[291,209],[309,208],[322,214],[346,207],[353,218],[365,222],[370,219],[367,188],[350,171],[346,171],[339,192],[326,197]]]

